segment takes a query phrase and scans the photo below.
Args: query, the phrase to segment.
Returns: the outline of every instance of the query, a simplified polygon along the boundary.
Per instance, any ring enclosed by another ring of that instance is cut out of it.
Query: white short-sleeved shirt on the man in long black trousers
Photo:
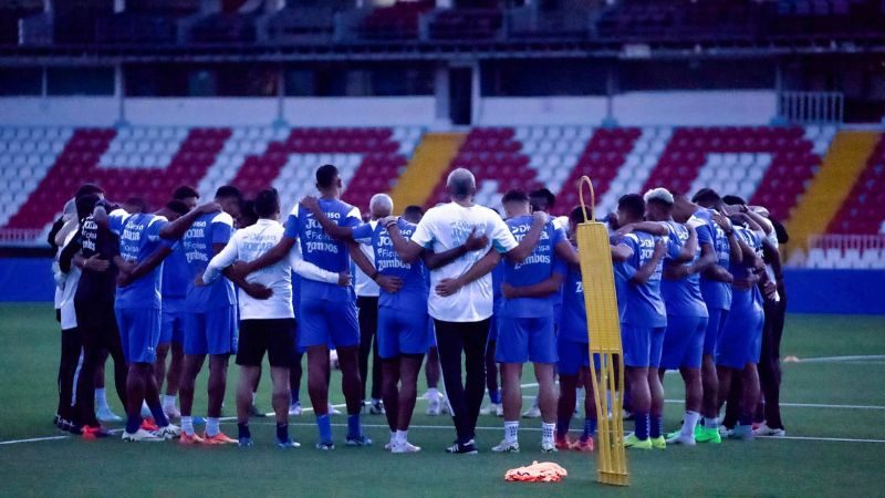
[[[491,247],[500,253],[509,252],[518,245],[497,212],[485,206],[464,207],[457,203],[430,208],[412,235],[412,241],[434,252],[444,252],[461,246],[473,229],[477,235],[486,235]],[[478,322],[491,317],[491,273],[468,283],[447,298],[436,292],[436,286],[441,280],[466,273],[488,250],[486,247],[468,252],[445,267],[430,271],[430,295],[427,300],[430,317],[446,322]]]

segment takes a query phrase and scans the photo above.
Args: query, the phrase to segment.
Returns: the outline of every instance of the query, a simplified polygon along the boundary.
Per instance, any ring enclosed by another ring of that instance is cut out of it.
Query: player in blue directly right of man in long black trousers
[[[529,196],[510,190],[501,199],[507,227],[521,240],[531,230],[533,217]],[[521,261],[504,260],[501,292],[503,303],[497,317],[498,341],[494,359],[501,363],[503,380],[504,438],[492,452],[519,452],[519,417],[522,408],[522,365],[534,364],[541,411],[541,450],[555,452],[556,339],[553,300],[565,278],[564,264],[555,264],[556,246],[569,245],[565,232],[548,221],[531,255]],[[571,246],[569,246],[571,249]]]

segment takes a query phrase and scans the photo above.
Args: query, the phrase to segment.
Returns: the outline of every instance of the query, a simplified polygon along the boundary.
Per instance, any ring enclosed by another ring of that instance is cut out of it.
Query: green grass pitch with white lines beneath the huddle
[[[181,447],[174,443],[124,444],[118,438],[84,442],[60,436],[51,419],[56,403],[59,329],[50,305],[0,305],[0,496],[876,496],[885,468],[885,318],[791,315],[782,353],[804,361],[783,365],[782,401],[788,439],[719,446],[627,452],[631,486],[598,485],[595,454],[541,454],[539,421],[524,421],[521,454],[489,448],[502,436],[502,422],[480,416],[476,456],[450,456],[448,416],[424,415],[418,402],[409,439],[416,455],[382,449],[387,428],[382,416],[363,417],[375,440],[369,448],[340,445],[331,453],[312,448],[312,415],[293,418],[292,434],[304,444],[281,452],[271,445],[272,419],[253,419],[256,446]],[[531,383],[527,369],[524,382]],[[195,411],[205,409],[205,371]],[[237,369],[231,366],[226,415],[233,415]],[[108,385],[111,385],[110,383]],[[306,381],[302,384],[305,385]],[[269,409],[268,378],[259,405]],[[419,392],[424,391],[421,377]],[[681,382],[665,382],[666,428],[678,426]],[[305,387],[303,387],[305,391]],[[531,396],[533,388],[523,390]],[[114,409],[122,414],[113,390]],[[332,398],[341,403],[339,378]],[[302,396],[302,403],[306,396]],[[528,401],[527,401],[528,403]],[[309,404],[308,404],[309,405]],[[809,406],[826,405],[826,406]],[[343,443],[344,417],[333,417]],[[573,422],[579,428],[581,421]],[[626,423],[632,428],[632,423]],[[223,426],[236,435],[236,426]],[[18,442],[34,438],[38,440]],[[842,439],[842,440],[840,440]],[[845,440],[853,439],[853,440]],[[569,470],[560,484],[503,480],[509,468],[532,460],[555,461]]]

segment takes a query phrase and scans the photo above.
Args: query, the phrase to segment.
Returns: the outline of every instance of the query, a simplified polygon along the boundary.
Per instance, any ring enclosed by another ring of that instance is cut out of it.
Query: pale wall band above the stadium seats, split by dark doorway
[[[108,126],[121,117],[140,125],[248,126],[282,117],[295,126],[434,126],[445,114],[434,96],[397,97],[129,97],[0,98],[0,124]],[[605,96],[479,97],[477,125],[622,126],[767,125],[777,115],[771,91],[631,92]],[[439,110],[439,111],[438,111]],[[710,112],[716,110],[716,112]]]

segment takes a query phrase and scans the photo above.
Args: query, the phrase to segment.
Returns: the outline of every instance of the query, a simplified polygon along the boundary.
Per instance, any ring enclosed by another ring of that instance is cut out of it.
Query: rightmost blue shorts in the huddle
[[[741,370],[747,363],[759,363],[762,324],[761,308],[732,307],[716,344],[716,365]]]

